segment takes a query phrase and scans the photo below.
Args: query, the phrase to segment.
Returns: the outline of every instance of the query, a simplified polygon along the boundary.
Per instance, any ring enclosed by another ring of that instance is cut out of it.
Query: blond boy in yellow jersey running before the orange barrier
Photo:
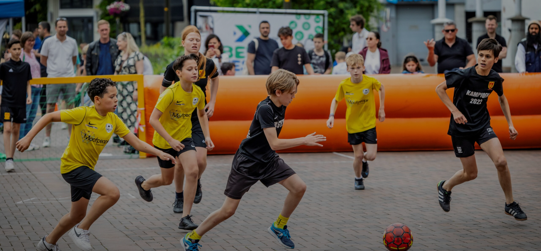
[[[331,114],[327,120],[327,127],[333,128],[334,112],[337,110],[338,102],[346,98],[347,142],[351,144],[355,154],[353,170],[355,189],[358,190],[365,189],[362,178],[368,177],[368,161],[373,161],[378,151],[373,90],[379,90],[379,121],[385,120],[385,88],[375,78],[362,74],[365,70],[364,63],[364,58],[359,54],[346,58],[347,71],[351,77],[340,82],[337,94],[331,102]],[[362,142],[365,142],[366,152],[363,152]]]

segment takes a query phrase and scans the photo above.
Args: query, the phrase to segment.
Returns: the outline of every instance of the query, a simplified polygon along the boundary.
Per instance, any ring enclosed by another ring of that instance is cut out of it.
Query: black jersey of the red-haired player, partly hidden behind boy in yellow
[[[166,72],[163,74],[163,81],[162,86],[163,87],[170,87],[172,83],[179,82],[179,76],[176,75],[176,72],[173,70],[173,64],[175,61],[171,62],[169,65],[167,65]],[[206,89],[207,89],[207,83],[208,83],[208,74],[211,74],[214,71],[214,68],[216,68],[216,65],[214,64],[214,61],[212,61],[210,58],[207,57],[207,63],[205,63],[205,67],[203,69],[203,65],[201,65],[201,68],[199,68],[199,80],[195,82],[194,84],[197,85],[201,90],[203,90],[204,96],[207,97]],[[219,75],[217,69],[216,73],[210,78],[215,78]],[[207,99],[205,98],[204,104],[207,104]],[[197,109],[194,110],[192,113],[192,121],[197,121],[199,118],[197,117]]]

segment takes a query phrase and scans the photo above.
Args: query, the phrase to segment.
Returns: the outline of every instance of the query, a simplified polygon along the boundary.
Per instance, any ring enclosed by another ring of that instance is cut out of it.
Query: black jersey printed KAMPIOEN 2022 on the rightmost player
[[[486,101],[492,91],[496,91],[498,96],[504,94],[502,87],[504,79],[494,70],[490,70],[488,76],[481,76],[477,74],[476,66],[477,64],[464,70],[445,74],[447,88],[454,88],[453,104],[468,121],[466,124],[459,124],[454,122],[451,115],[448,135],[470,136],[490,127]]]

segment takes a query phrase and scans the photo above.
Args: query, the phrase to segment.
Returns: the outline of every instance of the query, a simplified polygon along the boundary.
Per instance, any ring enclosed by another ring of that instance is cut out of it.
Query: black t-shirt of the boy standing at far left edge
[[[32,79],[30,64],[22,60],[8,60],[0,64],[0,80],[3,84],[2,106],[25,107],[27,83]]]

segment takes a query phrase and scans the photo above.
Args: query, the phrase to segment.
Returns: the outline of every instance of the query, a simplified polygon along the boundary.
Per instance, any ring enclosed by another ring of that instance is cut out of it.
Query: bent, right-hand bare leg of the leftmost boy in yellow
[[[100,197],[92,203],[90,211],[87,216],[84,217],[83,221],[78,228],[88,230],[90,226],[96,221],[107,209],[113,207],[113,205],[120,199],[120,191],[115,186],[113,182],[108,180],[106,177],[100,177],[94,184],[92,191],[96,194],[99,194]],[[50,242],[49,242],[50,243]]]

